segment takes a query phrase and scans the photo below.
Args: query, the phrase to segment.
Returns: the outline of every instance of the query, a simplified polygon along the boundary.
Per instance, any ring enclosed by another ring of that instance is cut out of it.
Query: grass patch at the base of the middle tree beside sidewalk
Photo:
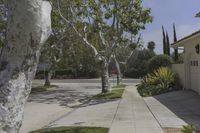
[[[121,98],[124,92],[125,85],[119,85],[112,88],[111,92],[108,93],[100,93],[92,97],[92,99],[100,100],[100,99],[116,99]]]

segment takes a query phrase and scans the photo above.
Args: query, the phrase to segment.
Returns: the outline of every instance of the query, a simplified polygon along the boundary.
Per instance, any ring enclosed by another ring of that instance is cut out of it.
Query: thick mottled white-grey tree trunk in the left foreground
[[[8,0],[7,44],[0,57],[0,133],[18,133],[42,44],[51,32],[51,5]]]

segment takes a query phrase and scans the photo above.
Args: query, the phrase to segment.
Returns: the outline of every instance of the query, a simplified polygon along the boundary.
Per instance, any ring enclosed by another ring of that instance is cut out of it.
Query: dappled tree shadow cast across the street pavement
[[[101,87],[98,85],[81,85],[81,88],[77,89],[76,86],[69,87],[66,84],[44,92],[32,93],[29,96],[28,102],[59,104],[64,107],[80,108],[114,101],[93,100],[92,97],[100,92]]]

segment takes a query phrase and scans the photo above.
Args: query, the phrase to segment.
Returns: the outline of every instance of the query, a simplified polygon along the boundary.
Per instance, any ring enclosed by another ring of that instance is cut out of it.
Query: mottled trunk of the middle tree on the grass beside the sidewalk
[[[111,91],[109,72],[108,72],[108,62],[103,60],[101,62],[101,81],[102,81],[102,93]]]

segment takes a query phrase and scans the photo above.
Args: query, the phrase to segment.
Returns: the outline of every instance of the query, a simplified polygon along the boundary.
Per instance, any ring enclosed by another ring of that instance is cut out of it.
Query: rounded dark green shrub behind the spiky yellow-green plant
[[[160,67],[171,67],[172,58],[168,55],[156,55],[149,60],[149,72],[152,72]]]

